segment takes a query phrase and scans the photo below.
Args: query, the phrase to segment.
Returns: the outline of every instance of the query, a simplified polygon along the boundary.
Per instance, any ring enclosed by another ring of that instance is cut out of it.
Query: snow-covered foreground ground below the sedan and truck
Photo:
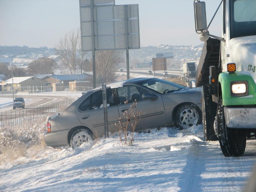
[[[31,147],[0,165],[0,191],[241,191],[255,161],[254,139],[245,155],[226,158],[205,142],[202,126],[118,135],[72,150]]]

